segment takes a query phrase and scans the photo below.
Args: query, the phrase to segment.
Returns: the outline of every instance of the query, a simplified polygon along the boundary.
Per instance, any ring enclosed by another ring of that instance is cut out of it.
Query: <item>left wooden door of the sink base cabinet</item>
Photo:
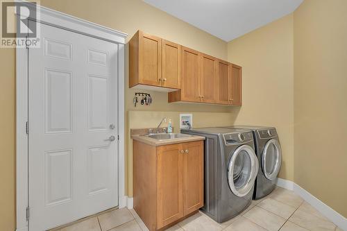
[[[183,216],[183,145],[157,149],[157,228]]]

